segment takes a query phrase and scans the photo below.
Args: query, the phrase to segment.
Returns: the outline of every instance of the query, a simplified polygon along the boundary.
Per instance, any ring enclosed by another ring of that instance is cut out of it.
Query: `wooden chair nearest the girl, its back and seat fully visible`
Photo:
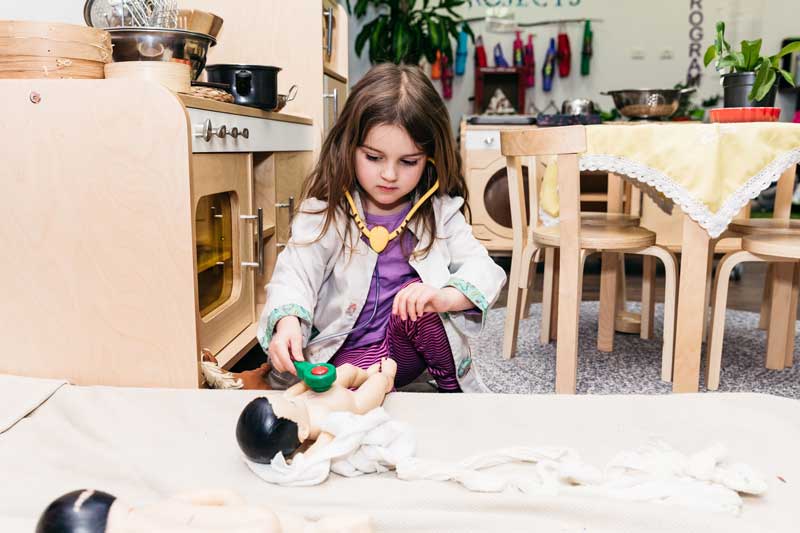
[[[511,200],[511,220],[514,244],[511,272],[509,275],[508,310],[503,337],[503,355],[510,357],[515,351],[521,316],[521,295],[532,277],[531,262],[542,250],[558,250],[558,269],[555,254],[545,255],[545,262],[552,261],[551,272],[558,273],[556,392],[574,393],[577,371],[578,318],[581,300],[583,261],[586,256],[600,252],[613,255],[618,261],[619,253],[635,253],[657,257],[664,263],[666,271],[666,301],[664,312],[664,347],[662,352],[662,379],[670,380],[674,344],[675,295],[677,260],[668,250],[655,246],[655,233],[638,225],[597,224],[580,213],[580,173],[578,154],[586,151],[586,130],[583,126],[539,128],[522,131],[504,131],[500,134],[501,152],[508,166],[508,190]],[[559,223],[544,227],[538,217],[540,172],[534,173],[534,183],[529,188],[531,202],[530,228],[525,220],[522,186],[522,159],[531,158],[528,168],[537,168],[543,156],[556,156],[559,191]],[[593,214],[592,217],[597,217]],[[614,215],[610,217],[612,220]],[[596,222],[596,220],[594,221]],[[552,258],[552,259],[551,259]],[[606,274],[608,270],[606,269]],[[545,269],[547,275],[547,269]],[[608,278],[608,275],[605,276]],[[613,281],[606,279],[602,286],[616,293],[616,272]],[[612,285],[613,283],[613,285]],[[543,303],[545,312],[552,312],[548,302]],[[613,308],[612,308],[613,311]],[[612,318],[613,320],[613,318]]]

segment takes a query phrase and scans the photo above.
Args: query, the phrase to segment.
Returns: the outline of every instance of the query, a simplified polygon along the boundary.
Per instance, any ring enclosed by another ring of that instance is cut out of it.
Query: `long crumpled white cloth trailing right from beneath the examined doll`
[[[739,493],[760,495],[767,489],[752,468],[727,462],[721,444],[687,456],[654,440],[618,454],[601,471],[569,448],[509,447],[458,462],[416,458],[411,427],[383,408],[365,415],[333,413],[322,429],[334,439],[312,457],[301,453],[288,463],[279,453],[269,465],[245,462],[263,480],[282,486],[318,485],[330,472],[354,477],[394,469],[402,480],[452,481],[473,492],[571,492],[732,514],[741,510]],[[516,472],[490,471],[506,464]]]

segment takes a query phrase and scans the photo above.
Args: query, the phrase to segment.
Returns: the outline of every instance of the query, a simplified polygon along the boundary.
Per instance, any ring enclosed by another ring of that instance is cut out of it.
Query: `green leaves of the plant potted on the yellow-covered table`
[[[714,44],[708,47],[703,62],[708,66],[717,59],[717,72],[755,72],[756,80],[748,98],[754,101],[763,100],[769,93],[780,73],[794,87],[792,74],[780,67],[780,61],[786,54],[800,51],[800,41],[788,44],[774,56],[761,55],[761,39],[742,41],[741,50],[732,50],[725,40],[725,23],[717,22],[717,36]]]

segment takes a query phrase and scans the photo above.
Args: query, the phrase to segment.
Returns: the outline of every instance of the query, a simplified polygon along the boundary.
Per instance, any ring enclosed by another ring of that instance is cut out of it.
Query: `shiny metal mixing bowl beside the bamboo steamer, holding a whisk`
[[[206,66],[209,46],[217,44],[210,35],[186,30],[160,28],[108,28],[114,45],[114,61],[179,61],[189,63],[192,79]]]

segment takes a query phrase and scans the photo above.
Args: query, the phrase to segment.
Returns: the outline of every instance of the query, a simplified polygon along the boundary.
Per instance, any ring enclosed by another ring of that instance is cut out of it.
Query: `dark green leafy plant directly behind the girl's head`
[[[422,56],[433,63],[436,51],[453,64],[453,47],[450,38],[458,39],[459,26],[472,41],[475,36],[469,24],[463,21],[454,9],[467,0],[357,0],[351,9],[347,0],[347,11],[361,19],[370,6],[377,16],[366,23],[356,37],[356,54],[361,57],[364,46],[369,43],[371,63],[391,61],[394,63],[419,63]],[[419,7],[417,4],[421,3]]]

